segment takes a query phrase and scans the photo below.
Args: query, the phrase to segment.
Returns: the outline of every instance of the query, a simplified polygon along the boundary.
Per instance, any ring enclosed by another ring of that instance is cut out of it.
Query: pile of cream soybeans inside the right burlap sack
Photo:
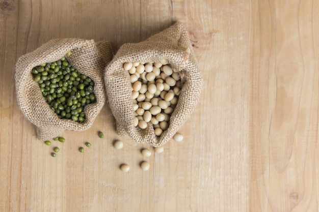
[[[155,135],[161,136],[170,123],[170,115],[178,102],[182,86],[179,73],[172,69],[168,59],[155,63],[127,62],[124,70],[130,74],[135,127],[153,125]]]

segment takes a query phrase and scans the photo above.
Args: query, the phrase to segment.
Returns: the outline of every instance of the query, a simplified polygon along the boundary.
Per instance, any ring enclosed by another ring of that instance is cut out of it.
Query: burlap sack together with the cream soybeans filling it
[[[203,84],[179,22],[146,41],[122,45],[105,68],[104,81],[118,134],[155,147],[186,122]]]

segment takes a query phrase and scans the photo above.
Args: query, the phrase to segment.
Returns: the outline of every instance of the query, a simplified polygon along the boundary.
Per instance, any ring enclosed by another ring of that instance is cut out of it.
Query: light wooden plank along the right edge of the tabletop
[[[318,208],[317,7],[253,3],[251,211]]]

